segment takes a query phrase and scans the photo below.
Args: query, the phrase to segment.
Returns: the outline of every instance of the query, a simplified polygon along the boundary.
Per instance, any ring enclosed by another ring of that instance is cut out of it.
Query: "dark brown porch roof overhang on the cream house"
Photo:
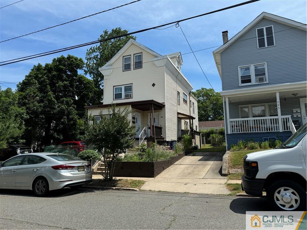
[[[153,110],[161,110],[165,104],[161,102],[157,102],[155,100],[146,100],[146,101],[136,101],[136,102],[119,102],[114,103],[116,106],[126,106],[131,105],[133,109],[139,109],[143,111],[150,110],[150,107],[153,106]],[[111,107],[112,104],[102,104],[102,105],[89,105],[84,106],[85,109],[103,109]]]

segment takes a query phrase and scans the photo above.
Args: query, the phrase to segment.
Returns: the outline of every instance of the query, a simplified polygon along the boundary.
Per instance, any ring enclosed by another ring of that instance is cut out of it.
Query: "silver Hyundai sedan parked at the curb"
[[[66,154],[28,153],[0,164],[0,189],[33,190],[36,196],[91,181],[90,162]]]

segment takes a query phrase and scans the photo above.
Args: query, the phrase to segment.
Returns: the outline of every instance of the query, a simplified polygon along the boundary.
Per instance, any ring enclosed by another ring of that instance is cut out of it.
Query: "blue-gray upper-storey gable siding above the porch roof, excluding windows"
[[[273,25],[275,46],[257,48],[256,29]],[[306,32],[262,19],[221,53],[223,90],[306,81]],[[239,86],[238,66],[267,63],[268,83]]]

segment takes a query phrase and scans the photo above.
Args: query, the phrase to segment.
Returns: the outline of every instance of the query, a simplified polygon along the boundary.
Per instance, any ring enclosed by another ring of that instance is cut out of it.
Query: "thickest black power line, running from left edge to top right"
[[[185,19],[181,19],[181,20],[178,20],[178,21],[169,22],[169,23],[166,23],[164,25],[158,25],[158,26],[154,26],[154,27],[151,27],[151,28],[138,30],[138,31],[131,32],[131,33],[126,33],[126,34],[114,36],[114,37],[111,37],[111,38],[105,38],[105,39],[101,39],[101,40],[97,40],[97,41],[87,42],[87,43],[80,44],[80,45],[75,45],[75,46],[70,46],[70,47],[66,47],[66,48],[62,48],[62,49],[58,49],[58,50],[54,50],[54,51],[49,51],[49,52],[41,53],[38,56],[37,55],[32,55],[32,57],[27,56],[29,58],[23,57],[25,59],[17,58],[17,59],[22,59],[22,60],[17,60],[17,61],[1,64],[0,66],[8,65],[8,64],[16,63],[16,62],[21,62],[21,61],[25,61],[25,60],[29,60],[29,59],[33,59],[33,58],[37,58],[37,57],[47,56],[47,55],[51,55],[51,54],[55,54],[55,53],[59,53],[59,52],[63,52],[63,51],[71,50],[71,49],[76,49],[76,48],[84,47],[84,46],[87,46],[87,45],[97,44],[97,43],[100,43],[100,42],[103,42],[103,41],[108,41],[108,40],[112,40],[112,39],[116,39],[116,38],[120,38],[120,37],[124,37],[124,36],[128,36],[128,35],[132,35],[132,34],[136,34],[136,33],[141,33],[141,32],[145,32],[145,31],[151,30],[151,29],[161,28],[161,27],[166,26],[166,25],[171,25],[171,24],[174,24],[174,23],[179,23],[179,22],[182,22],[182,21],[187,21],[187,20],[190,20],[190,19],[193,19],[193,18],[196,18],[196,17],[202,17],[204,15],[220,12],[220,11],[223,11],[223,10],[228,10],[228,9],[231,9],[231,8],[235,8],[235,7],[238,7],[238,6],[243,6],[243,5],[246,5],[246,4],[249,4],[249,3],[253,3],[253,2],[258,2],[258,1],[260,1],[260,0],[250,0],[250,1],[247,1],[247,2],[242,2],[242,3],[236,4],[236,5],[232,5],[232,6],[228,6],[228,7],[219,9],[219,10],[214,10],[214,11],[211,11],[211,12],[208,12],[208,13],[203,13],[203,14],[199,14],[199,15],[196,15],[196,16],[193,16],[193,17],[188,17],[188,18],[185,18]],[[35,57],[33,57],[33,56],[35,56]],[[7,61],[5,61],[5,62],[7,62]]]

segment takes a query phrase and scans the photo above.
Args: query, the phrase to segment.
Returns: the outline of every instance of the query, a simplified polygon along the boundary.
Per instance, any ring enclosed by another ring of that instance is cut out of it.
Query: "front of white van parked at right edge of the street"
[[[306,124],[282,147],[244,157],[242,190],[266,197],[276,210],[306,210]]]

